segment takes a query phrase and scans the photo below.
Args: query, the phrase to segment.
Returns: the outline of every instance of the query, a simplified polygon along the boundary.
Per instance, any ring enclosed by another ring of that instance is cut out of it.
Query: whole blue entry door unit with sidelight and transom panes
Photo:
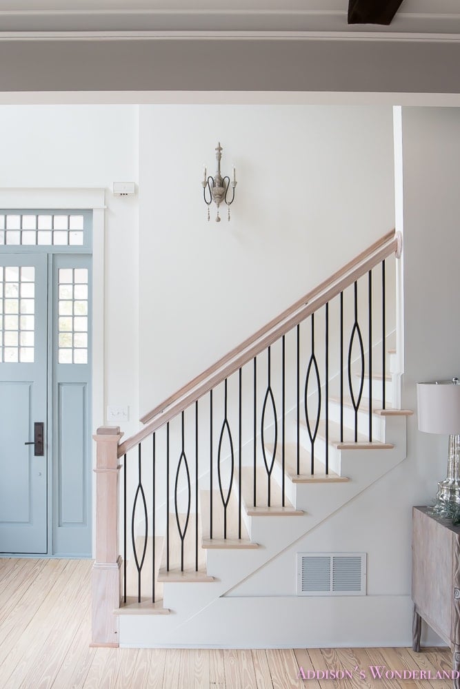
[[[0,553],[92,553],[91,247],[90,211],[0,209]]]

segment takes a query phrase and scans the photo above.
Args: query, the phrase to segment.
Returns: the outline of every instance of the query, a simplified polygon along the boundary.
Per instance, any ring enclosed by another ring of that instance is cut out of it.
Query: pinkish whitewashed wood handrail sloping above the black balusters
[[[400,238],[393,229],[392,232],[388,232],[388,234],[374,242],[368,249],[361,251],[361,254],[335,272],[328,280],[321,282],[321,285],[312,289],[306,296],[299,299],[286,311],[283,311],[277,318],[271,320],[266,326],[258,330],[257,333],[254,333],[254,335],[242,342],[241,345],[232,349],[226,356],[223,356],[206,371],[203,371],[199,376],[181,387],[180,390],[171,395],[162,404],[159,404],[155,409],[144,415],[141,418],[141,422],[146,424],[146,426],[119,446],[118,456],[121,457],[141,442],[141,440],[147,438],[148,435],[157,431],[161,426],[164,426],[164,424],[172,420],[190,404],[196,402],[210,389],[216,387],[216,385],[228,378],[228,376],[231,376],[235,371],[238,371],[244,364],[252,360],[254,356],[257,356],[261,351],[297,326],[302,320],[311,316],[312,313],[340,294],[341,291],[352,285],[355,280],[358,280],[376,265],[379,265],[385,258],[388,258],[393,253],[399,254],[400,251]]]

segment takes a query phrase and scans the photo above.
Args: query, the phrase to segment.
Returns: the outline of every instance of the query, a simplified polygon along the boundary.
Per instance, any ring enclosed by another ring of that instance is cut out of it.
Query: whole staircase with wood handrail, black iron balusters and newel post
[[[406,457],[388,290],[400,251],[383,237],[133,438],[98,429],[94,644],[292,645],[251,624],[249,599],[241,630],[237,592]]]

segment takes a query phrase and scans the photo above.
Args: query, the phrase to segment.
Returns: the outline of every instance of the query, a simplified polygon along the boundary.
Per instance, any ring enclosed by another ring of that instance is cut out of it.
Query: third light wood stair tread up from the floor
[[[224,493],[224,497],[226,497]],[[203,548],[258,548],[252,543],[241,521],[241,539],[239,538],[238,495],[236,491],[230,493],[227,506],[227,531],[224,538],[224,508],[220,491],[212,491],[212,538],[210,537],[211,491],[200,492],[200,511]]]

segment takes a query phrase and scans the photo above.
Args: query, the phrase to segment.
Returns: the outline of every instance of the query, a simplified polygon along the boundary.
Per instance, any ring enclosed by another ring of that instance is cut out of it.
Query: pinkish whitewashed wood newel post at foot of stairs
[[[96,560],[92,567],[91,646],[118,646],[121,600],[119,555],[119,426],[101,426],[92,437],[96,459]]]

